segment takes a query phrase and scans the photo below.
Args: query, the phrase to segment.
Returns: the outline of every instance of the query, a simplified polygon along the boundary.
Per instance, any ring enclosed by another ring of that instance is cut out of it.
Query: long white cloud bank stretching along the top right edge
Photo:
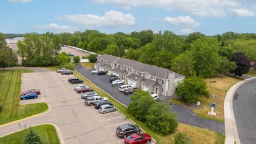
[[[237,12],[238,16],[250,16],[255,12],[255,1],[252,0],[92,0],[96,3],[114,3],[120,7],[156,7],[158,9],[190,12],[196,16],[213,16],[223,18],[229,15],[229,9],[244,9],[249,13]],[[244,14],[241,14],[244,13]]]

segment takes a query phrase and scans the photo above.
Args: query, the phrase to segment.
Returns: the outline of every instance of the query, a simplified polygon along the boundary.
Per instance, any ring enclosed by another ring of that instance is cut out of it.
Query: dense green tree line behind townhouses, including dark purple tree
[[[187,37],[172,31],[133,31],[105,34],[96,30],[60,33],[61,43],[98,54],[110,54],[170,69],[186,77],[235,75],[249,71],[256,62],[256,34],[227,32],[207,36],[200,32]]]

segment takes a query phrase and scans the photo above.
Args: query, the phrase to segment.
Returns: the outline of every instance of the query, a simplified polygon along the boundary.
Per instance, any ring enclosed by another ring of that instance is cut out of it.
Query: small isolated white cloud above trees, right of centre
[[[183,26],[190,26],[190,27],[198,27],[200,26],[199,22],[196,22],[193,20],[190,16],[177,16],[174,18],[171,18],[169,16],[166,16],[162,20],[168,22],[172,25],[183,25]]]

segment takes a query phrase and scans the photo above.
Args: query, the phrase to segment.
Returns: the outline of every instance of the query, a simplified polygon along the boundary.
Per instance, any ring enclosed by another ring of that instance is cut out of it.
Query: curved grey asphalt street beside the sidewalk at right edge
[[[240,142],[256,143],[256,79],[236,90],[233,109]]]

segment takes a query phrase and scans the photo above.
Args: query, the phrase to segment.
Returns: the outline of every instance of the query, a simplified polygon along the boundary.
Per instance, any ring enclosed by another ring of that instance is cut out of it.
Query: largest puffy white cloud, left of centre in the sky
[[[119,11],[110,10],[105,12],[104,16],[93,14],[73,14],[57,17],[58,20],[67,20],[74,22],[82,27],[122,27],[133,26],[135,18],[132,14],[123,14]]]

